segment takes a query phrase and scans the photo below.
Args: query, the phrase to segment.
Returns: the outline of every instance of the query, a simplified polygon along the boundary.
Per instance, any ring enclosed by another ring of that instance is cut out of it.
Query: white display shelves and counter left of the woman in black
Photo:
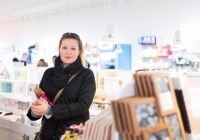
[[[40,121],[32,122],[26,117],[26,112],[33,102],[30,84],[39,83],[46,68],[15,66],[13,63],[0,65],[0,139],[22,140],[22,135],[33,140],[39,131]],[[12,115],[4,114],[12,112]],[[22,117],[23,116],[23,117]],[[24,120],[23,120],[24,118]],[[31,125],[32,124],[32,125]],[[35,126],[33,126],[35,125]]]

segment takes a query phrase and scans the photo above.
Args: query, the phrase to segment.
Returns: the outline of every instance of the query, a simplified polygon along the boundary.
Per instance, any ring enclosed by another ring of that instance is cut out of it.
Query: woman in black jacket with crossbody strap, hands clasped
[[[55,66],[45,71],[40,88],[51,102],[60,89],[65,89],[53,106],[36,100],[27,113],[31,120],[37,120],[42,115],[52,115],[49,119],[43,117],[45,122],[42,126],[41,140],[59,140],[67,127],[85,123],[89,119],[88,110],[96,85],[93,72],[83,67],[83,53],[83,45],[77,34],[63,34]],[[67,84],[69,77],[78,71],[78,75]]]

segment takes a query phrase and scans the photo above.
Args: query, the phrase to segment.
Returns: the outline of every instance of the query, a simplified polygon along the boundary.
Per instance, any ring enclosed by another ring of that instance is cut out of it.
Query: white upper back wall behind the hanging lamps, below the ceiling
[[[14,22],[2,22],[0,49],[11,48],[15,43],[20,50],[26,52],[28,46],[37,41],[42,49],[56,50],[61,35],[69,31],[78,33],[83,42],[101,41],[106,33],[107,24],[112,22],[119,42],[132,44],[132,69],[136,69],[140,50],[138,37],[168,35],[172,39],[177,30],[178,0],[140,1],[141,3],[137,3],[136,0],[124,0],[119,6],[119,12],[118,5],[113,3],[111,16],[106,3],[106,10],[101,5],[85,10],[73,9],[72,14],[67,10],[60,16],[48,15],[48,18],[40,20],[32,15],[31,21],[19,19]],[[200,35],[199,6],[199,0],[179,0],[179,29],[187,47],[190,46],[193,36]],[[51,53],[49,57],[52,55]]]

